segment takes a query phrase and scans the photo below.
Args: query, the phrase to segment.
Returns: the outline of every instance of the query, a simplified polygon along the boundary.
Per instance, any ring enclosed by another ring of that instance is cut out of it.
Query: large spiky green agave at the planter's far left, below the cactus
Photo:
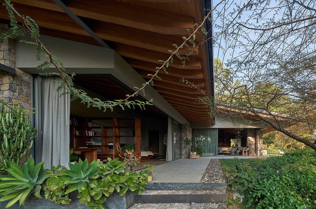
[[[45,162],[35,165],[33,157],[30,156],[22,169],[10,160],[8,163],[9,168],[5,170],[10,175],[0,176],[0,195],[4,195],[0,202],[10,200],[5,208],[12,206],[18,200],[20,206],[24,206],[25,201],[33,192],[36,197],[42,198],[40,196],[41,184],[51,176],[45,174]]]

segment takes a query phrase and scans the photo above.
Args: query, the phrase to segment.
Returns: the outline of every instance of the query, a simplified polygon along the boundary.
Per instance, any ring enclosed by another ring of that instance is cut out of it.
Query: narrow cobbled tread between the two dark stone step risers
[[[226,190],[146,190],[142,195],[148,194],[226,194]]]

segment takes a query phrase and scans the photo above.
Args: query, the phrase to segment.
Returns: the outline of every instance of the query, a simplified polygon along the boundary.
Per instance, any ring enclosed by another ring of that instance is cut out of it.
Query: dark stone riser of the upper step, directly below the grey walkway
[[[165,183],[149,182],[147,190],[219,190],[227,189],[227,183]]]

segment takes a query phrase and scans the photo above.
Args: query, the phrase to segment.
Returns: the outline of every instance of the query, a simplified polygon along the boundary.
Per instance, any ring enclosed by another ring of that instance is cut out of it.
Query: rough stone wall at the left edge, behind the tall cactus
[[[7,29],[8,25],[0,24],[0,33]],[[15,68],[15,40],[0,39],[0,63]],[[16,69],[16,73],[8,73],[0,70],[0,99],[5,102],[21,105],[22,109],[31,109],[31,74]],[[23,164],[32,150],[20,160]]]

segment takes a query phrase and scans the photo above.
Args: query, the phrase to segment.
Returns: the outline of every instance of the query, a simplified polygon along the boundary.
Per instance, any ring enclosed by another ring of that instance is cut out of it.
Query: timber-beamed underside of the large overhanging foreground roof
[[[23,15],[32,17],[40,27],[41,34],[99,45],[88,33],[71,19],[52,0],[12,0],[14,7]],[[101,39],[121,55],[145,80],[166,60],[173,49],[181,44],[182,36],[188,36],[194,23],[203,21],[200,0],[64,0],[76,15],[88,20],[88,26]],[[1,9],[4,9],[1,6]],[[6,13],[0,18],[8,19]],[[203,34],[196,42],[203,40]],[[192,48],[191,48],[192,49]],[[180,54],[188,51],[183,49]],[[209,108],[195,101],[203,96],[195,89],[180,83],[181,78],[194,82],[210,93],[204,44],[194,52],[190,61],[181,66],[174,62],[167,69],[168,75],[159,73],[162,80],[154,79],[154,88],[189,122],[212,125]],[[98,85],[98,84],[97,84]],[[104,88],[106,89],[106,87]],[[104,90],[103,89],[103,90]],[[118,91],[119,95],[120,92]],[[117,96],[116,95],[116,96]]]

